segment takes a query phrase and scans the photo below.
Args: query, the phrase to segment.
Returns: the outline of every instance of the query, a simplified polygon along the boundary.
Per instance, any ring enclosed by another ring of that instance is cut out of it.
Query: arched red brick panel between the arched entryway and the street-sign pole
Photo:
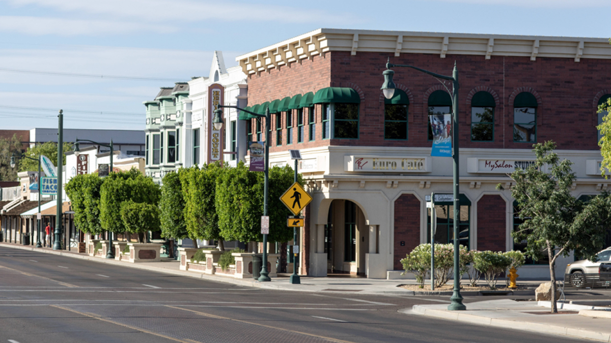
[[[401,247],[401,241],[405,245]],[[403,194],[395,201],[395,270],[403,270],[401,259],[420,244],[420,200]]]

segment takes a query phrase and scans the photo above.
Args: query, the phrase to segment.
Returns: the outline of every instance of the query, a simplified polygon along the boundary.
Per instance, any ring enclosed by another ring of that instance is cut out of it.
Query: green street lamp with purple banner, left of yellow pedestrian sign
[[[268,215],[268,195],[269,195],[269,107],[265,109],[265,115],[257,114],[255,112],[251,112],[249,110],[241,109],[238,106],[225,106],[218,105],[219,109],[214,110],[214,119],[213,124],[214,128],[220,130],[223,126],[222,120],[222,107],[228,107],[232,109],[238,109],[242,112],[246,112],[247,114],[254,115],[257,118],[265,118],[265,170],[263,171],[263,175],[265,175],[265,183],[263,186],[263,215]],[[269,278],[269,272],[267,270],[267,234],[263,234],[263,265],[261,267],[261,276],[259,276],[258,281],[271,281]]]

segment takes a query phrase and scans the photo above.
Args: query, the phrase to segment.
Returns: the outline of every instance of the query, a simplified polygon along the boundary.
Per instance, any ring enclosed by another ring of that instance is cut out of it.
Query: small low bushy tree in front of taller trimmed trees
[[[138,234],[139,242],[142,242],[141,234],[147,231],[159,231],[159,208],[155,204],[123,201],[120,215],[125,231]]]

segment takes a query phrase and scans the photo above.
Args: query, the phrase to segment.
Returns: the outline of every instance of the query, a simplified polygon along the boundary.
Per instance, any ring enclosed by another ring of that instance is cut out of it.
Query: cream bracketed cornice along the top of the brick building
[[[527,35],[453,34],[444,32],[317,29],[236,57],[245,74],[261,73],[327,51],[401,54],[555,57],[611,59],[607,38]]]

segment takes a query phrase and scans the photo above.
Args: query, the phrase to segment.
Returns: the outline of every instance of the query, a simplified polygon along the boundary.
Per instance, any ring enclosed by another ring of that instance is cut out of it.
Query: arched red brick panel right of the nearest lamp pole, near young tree
[[[505,251],[505,212],[500,195],[484,195],[477,202],[477,250]]]

